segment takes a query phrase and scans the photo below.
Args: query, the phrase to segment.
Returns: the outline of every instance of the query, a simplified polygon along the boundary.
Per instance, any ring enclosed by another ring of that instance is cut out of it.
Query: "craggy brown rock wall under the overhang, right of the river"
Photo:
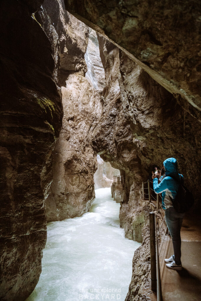
[[[141,300],[145,298],[140,296],[141,290],[149,284],[145,277],[149,272],[149,236],[141,234],[143,224],[148,227],[142,213],[145,209],[140,209],[141,183],[147,180],[154,164],[161,165],[166,158],[176,157],[185,183],[194,193],[194,209],[200,209],[199,178],[195,175],[192,181],[191,177],[199,166],[200,124],[124,52],[102,36],[99,46],[106,86],[92,145],[103,160],[125,176],[120,225],[127,238],[142,241],[133,258],[127,300]],[[141,276],[144,281],[140,288]]]

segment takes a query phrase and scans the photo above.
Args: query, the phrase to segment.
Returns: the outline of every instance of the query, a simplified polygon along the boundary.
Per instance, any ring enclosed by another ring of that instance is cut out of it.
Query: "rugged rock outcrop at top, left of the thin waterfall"
[[[89,28],[64,8],[63,0],[45,0],[35,14],[55,49],[55,65],[60,65],[59,85],[65,86],[68,74],[87,71],[84,54]]]

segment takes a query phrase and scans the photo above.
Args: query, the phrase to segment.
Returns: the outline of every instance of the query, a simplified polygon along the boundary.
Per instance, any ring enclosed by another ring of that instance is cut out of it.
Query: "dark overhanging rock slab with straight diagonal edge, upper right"
[[[68,11],[126,49],[200,118],[199,1],[64,1]]]

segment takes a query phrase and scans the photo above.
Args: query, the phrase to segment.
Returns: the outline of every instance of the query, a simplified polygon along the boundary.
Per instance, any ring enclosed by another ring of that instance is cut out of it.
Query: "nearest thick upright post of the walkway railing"
[[[149,234],[150,234],[150,262],[151,262],[151,289],[156,291],[156,254],[155,254],[155,214],[149,212]]]

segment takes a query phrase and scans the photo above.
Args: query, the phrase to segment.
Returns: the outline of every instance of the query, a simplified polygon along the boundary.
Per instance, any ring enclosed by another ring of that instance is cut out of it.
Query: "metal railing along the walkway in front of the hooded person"
[[[145,187],[147,183],[147,187]],[[152,182],[151,182],[152,183]],[[161,194],[156,194],[153,195],[152,191],[154,190],[150,187],[150,181],[148,180],[147,182],[142,183],[142,189],[143,189],[143,200],[149,200],[150,203],[153,203],[156,201],[156,212],[150,212],[149,213],[149,233],[150,233],[150,262],[151,262],[151,289],[153,291],[157,291],[157,300],[161,301],[162,300],[162,290],[161,290],[161,278],[160,278],[160,269],[162,267],[162,262],[163,258],[165,255],[165,249],[168,241],[168,235],[169,231],[167,233],[167,225],[165,222],[165,210],[162,207],[162,203],[160,201],[162,200]],[[145,193],[145,191],[148,190],[148,193]],[[155,192],[154,192],[155,194]],[[161,200],[160,200],[161,198]],[[154,204],[155,206],[155,204]],[[156,217],[158,217],[158,213],[161,215],[162,218],[162,224],[160,226],[159,231],[157,231],[157,226],[156,226]],[[163,224],[165,225],[165,234],[163,238],[161,239],[160,243],[160,250],[158,248],[158,238],[161,235],[161,231],[163,229]],[[165,236],[167,233],[167,239],[165,242]],[[163,245],[165,242],[165,248],[162,254],[162,260],[161,260],[161,265],[159,264],[159,256],[161,254]]]

